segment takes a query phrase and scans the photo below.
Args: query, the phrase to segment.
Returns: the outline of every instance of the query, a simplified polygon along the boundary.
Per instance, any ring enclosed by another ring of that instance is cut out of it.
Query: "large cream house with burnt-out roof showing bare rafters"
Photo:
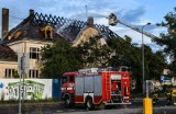
[[[2,9],[2,19],[9,20],[8,16],[9,10]],[[2,20],[2,32],[8,31],[9,21]],[[106,44],[105,37],[120,37],[107,26],[94,24],[92,18],[89,18],[88,22],[72,21],[30,10],[26,19],[2,36],[0,78],[13,78],[15,71],[19,75],[25,72],[25,78],[41,78],[40,69],[42,66],[37,61],[43,46],[52,45],[58,38],[66,39],[73,43],[73,46],[77,46],[82,41],[88,41],[89,37],[98,34],[103,36],[100,41],[101,44]],[[11,52],[11,55],[6,53],[4,47]],[[8,55],[10,59],[7,59],[4,55]]]

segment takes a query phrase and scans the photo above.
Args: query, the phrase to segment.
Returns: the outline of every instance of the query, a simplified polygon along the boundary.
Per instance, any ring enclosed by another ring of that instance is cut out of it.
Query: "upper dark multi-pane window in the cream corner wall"
[[[40,58],[40,48],[30,47],[30,59],[38,59]]]

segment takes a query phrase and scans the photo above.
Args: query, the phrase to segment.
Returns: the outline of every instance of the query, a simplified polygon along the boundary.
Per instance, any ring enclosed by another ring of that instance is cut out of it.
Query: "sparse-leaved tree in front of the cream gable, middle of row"
[[[102,36],[89,37],[89,41],[80,43],[76,48],[82,57],[84,68],[108,67],[113,50],[101,42]]]

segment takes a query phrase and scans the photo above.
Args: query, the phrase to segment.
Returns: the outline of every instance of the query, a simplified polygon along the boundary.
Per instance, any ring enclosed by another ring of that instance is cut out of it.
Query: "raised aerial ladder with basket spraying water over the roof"
[[[157,37],[157,36],[153,35],[153,34],[151,34],[151,33],[147,33],[147,32],[145,32],[145,31],[143,31],[143,30],[141,30],[141,29],[134,27],[134,26],[132,26],[132,25],[130,25],[130,24],[127,24],[127,23],[118,20],[118,19],[117,19],[117,15],[113,14],[113,13],[111,13],[111,14],[109,15],[109,25],[114,26],[114,25],[117,25],[117,23],[120,23],[120,24],[122,24],[122,25],[124,25],[124,26],[128,26],[128,27],[130,27],[130,29],[139,32],[139,33],[142,33],[142,34],[146,35],[147,37],[150,37],[150,38],[152,38],[152,39],[154,39],[154,38]]]

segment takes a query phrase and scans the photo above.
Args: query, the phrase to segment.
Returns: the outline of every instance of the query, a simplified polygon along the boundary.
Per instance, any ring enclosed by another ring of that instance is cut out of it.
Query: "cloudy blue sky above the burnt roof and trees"
[[[38,13],[86,21],[86,5],[88,15],[95,16],[98,24],[108,26],[106,16],[112,12],[119,20],[139,27],[151,22],[152,25],[145,26],[144,30],[158,36],[166,30],[156,27],[155,24],[164,21],[164,15],[174,11],[176,0],[0,0],[0,9],[10,10],[10,30],[29,15],[30,9]],[[118,35],[122,37],[129,35],[134,43],[141,44],[140,33],[120,24],[109,27]],[[154,50],[158,49],[148,37],[144,38],[145,44],[152,46]]]

